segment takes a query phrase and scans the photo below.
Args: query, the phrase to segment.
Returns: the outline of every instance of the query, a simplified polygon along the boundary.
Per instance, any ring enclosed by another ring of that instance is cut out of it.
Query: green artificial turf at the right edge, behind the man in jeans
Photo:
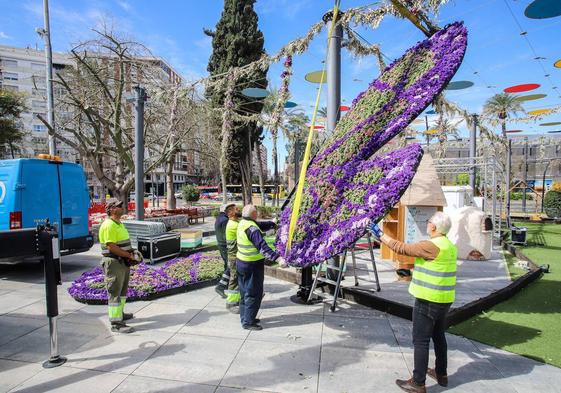
[[[550,273],[518,294],[450,329],[485,344],[561,367],[561,225],[517,223],[528,228],[522,252]],[[509,256],[513,279],[523,273]]]

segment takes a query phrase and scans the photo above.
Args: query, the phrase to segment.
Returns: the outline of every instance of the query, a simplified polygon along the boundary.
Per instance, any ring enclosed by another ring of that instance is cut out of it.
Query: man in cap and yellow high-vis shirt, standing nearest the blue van
[[[131,333],[134,329],[125,321],[132,319],[132,314],[123,312],[129,287],[130,260],[136,259],[129,232],[121,222],[123,202],[110,199],[106,205],[107,218],[99,227],[101,244],[101,266],[105,274],[108,294],[109,321],[111,330],[117,333]]]

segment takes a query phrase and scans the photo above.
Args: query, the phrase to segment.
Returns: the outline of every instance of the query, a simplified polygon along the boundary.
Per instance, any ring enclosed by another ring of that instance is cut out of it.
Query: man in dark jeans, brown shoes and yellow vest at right
[[[440,386],[448,385],[446,317],[456,293],[456,265],[458,250],[446,237],[451,226],[450,217],[436,212],[427,221],[429,240],[405,244],[382,233],[376,224],[369,230],[391,250],[415,257],[409,293],[415,297],[413,308],[413,377],[396,380],[406,392],[426,392],[427,374]],[[432,338],[435,368],[428,368],[429,344]]]

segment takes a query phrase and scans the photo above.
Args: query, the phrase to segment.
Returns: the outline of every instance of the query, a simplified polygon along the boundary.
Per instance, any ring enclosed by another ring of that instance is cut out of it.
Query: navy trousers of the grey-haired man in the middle
[[[242,326],[253,325],[263,299],[265,260],[257,262],[237,261],[238,286],[240,289],[240,320]]]

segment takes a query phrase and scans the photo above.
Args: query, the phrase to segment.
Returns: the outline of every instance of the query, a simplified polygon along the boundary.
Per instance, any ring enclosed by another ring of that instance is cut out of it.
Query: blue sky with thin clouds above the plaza
[[[35,28],[43,23],[42,3],[42,0],[0,0],[0,43],[42,48],[35,33]],[[342,0],[341,6],[344,10],[371,3],[368,0]],[[470,111],[479,112],[487,98],[505,87],[538,83],[541,87],[531,93],[543,93],[547,97],[528,101],[524,105],[527,110],[561,105],[561,68],[553,67],[553,63],[561,59],[561,17],[528,19],[524,9],[529,3],[531,0],[452,0],[442,8],[438,16],[441,26],[463,20],[469,30],[467,54],[454,80],[475,83],[469,89],[449,92],[449,99]],[[202,30],[204,27],[214,28],[222,5],[220,0],[50,0],[53,47],[57,51],[68,50],[72,43],[91,37],[91,28],[104,20],[115,30],[147,45],[185,78],[196,79],[206,75],[211,53],[210,38]],[[331,1],[323,0],[258,0],[256,11],[266,50],[274,53],[290,40],[305,34],[332,5]],[[391,59],[399,57],[424,38],[410,23],[394,18],[384,20],[377,30],[361,27],[357,30],[371,43],[379,43],[383,53]],[[527,34],[521,36],[521,30]],[[323,33],[312,42],[305,55],[294,58],[291,100],[309,114],[317,85],[306,82],[304,75],[321,69],[325,46],[326,34]],[[535,57],[545,60],[535,60]],[[279,86],[281,72],[281,65],[270,68],[270,85]],[[343,51],[342,73],[343,104],[350,104],[379,71],[374,58],[356,59]],[[545,77],[545,74],[550,76]],[[553,121],[561,121],[561,114],[544,117],[536,124],[514,123],[509,128],[522,129],[524,134],[561,129],[561,126],[539,126],[541,122]],[[419,126],[421,129],[423,126]],[[462,133],[466,135],[466,130]],[[270,147],[268,138],[266,145]],[[280,162],[283,162],[284,142],[281,140],[279,145]]]

